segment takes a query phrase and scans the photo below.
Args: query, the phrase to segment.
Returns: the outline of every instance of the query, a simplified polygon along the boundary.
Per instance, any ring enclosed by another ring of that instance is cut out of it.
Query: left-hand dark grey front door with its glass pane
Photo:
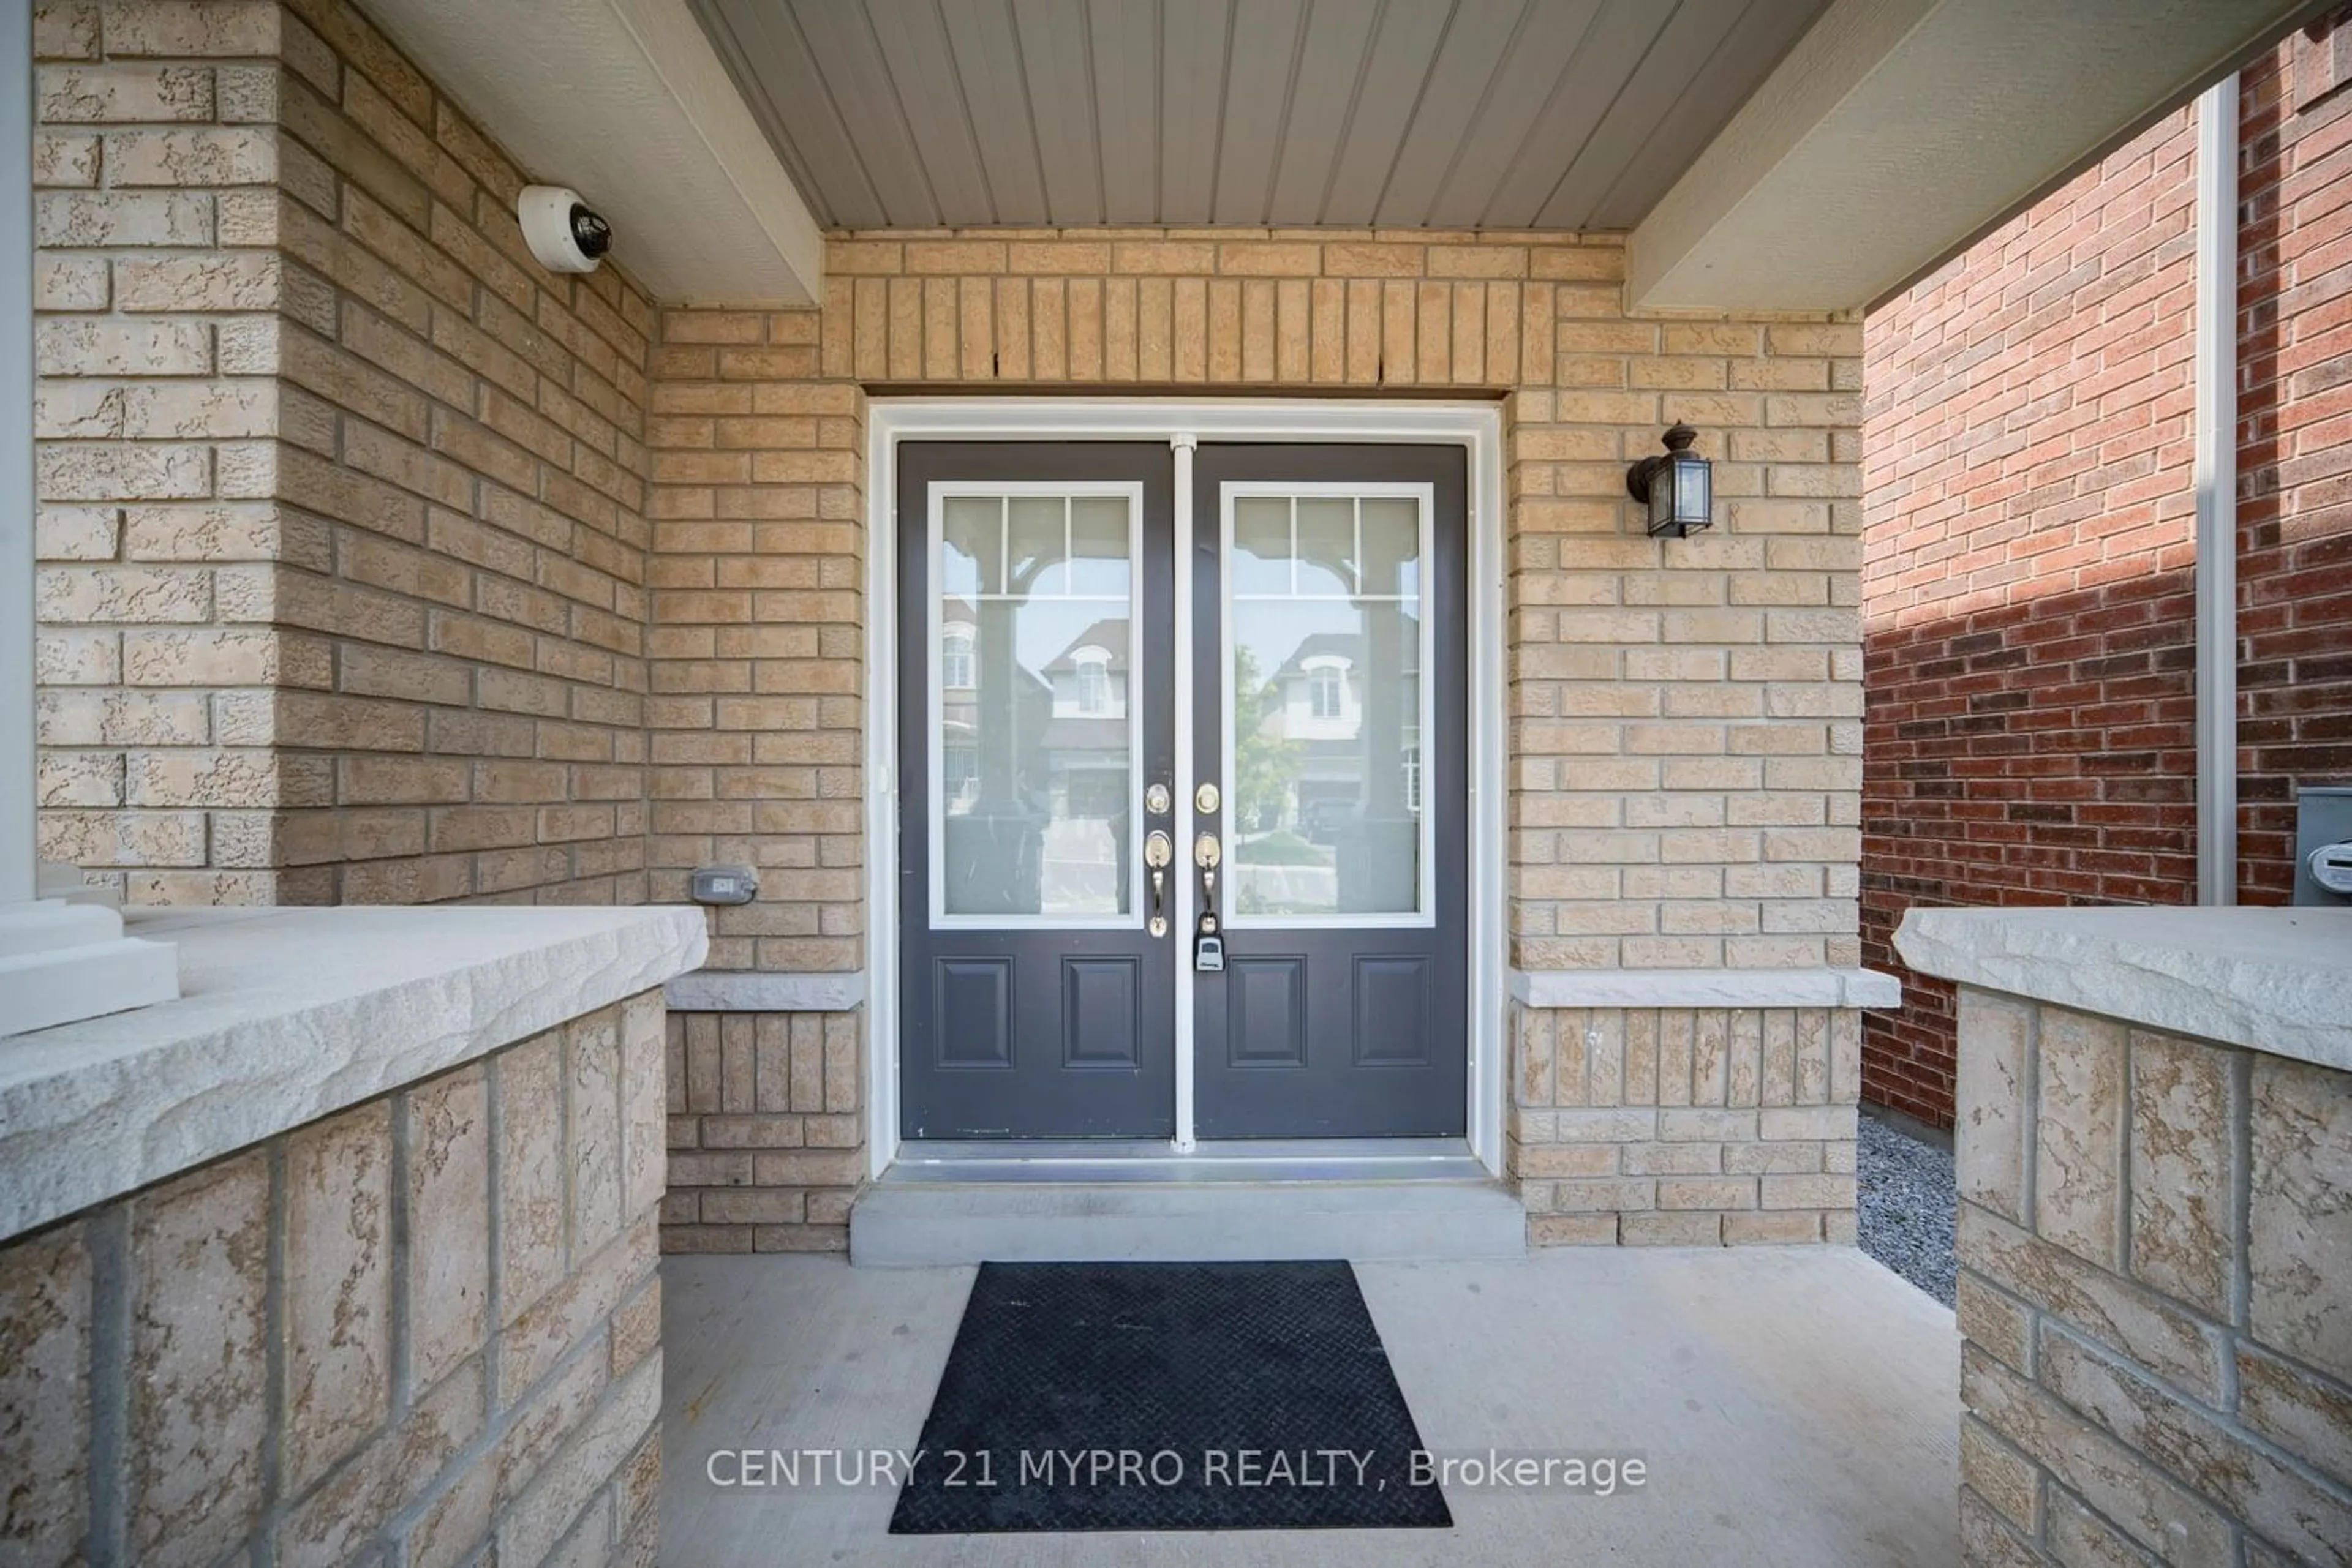
[[[896,456],[901,877],[868,926],[903,957],[901,1133],[1171,1138],[1174,943],[1143,914],[1145,778],[1174,766],[1169,449]],[[1075,548],[1082,501],[1117,503],[1089,527],[1124,555]]]

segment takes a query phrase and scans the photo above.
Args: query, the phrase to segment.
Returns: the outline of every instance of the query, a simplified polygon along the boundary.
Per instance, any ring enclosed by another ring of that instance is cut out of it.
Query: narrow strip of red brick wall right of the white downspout
[[[2239,900],[2293,891],[2293,788],[2352,783],[2352,7],[2241,85]]]

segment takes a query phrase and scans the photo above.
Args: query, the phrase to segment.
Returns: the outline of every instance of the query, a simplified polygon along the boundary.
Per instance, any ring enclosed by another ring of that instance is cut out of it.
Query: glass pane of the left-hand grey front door
[[[1134,494],[946,494],[931,917],[1129,926]]]

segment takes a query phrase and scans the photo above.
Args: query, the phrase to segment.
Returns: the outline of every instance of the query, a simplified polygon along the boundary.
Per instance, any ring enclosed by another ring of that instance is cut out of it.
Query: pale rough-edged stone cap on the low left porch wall
[[[701,910],[143,910],[181,997],[0,1041],[0,1241],[701,964]]]

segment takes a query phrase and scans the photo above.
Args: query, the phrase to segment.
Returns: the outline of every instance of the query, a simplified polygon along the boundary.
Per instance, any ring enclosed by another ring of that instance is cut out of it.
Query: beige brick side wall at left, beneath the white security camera
[[[644,360],[343,0],[38,26],[42,853],[134,903],[644,898]]]

